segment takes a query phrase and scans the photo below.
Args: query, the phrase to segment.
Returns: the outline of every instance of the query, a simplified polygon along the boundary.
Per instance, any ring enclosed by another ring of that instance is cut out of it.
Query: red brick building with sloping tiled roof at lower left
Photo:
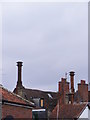
[[[2,120],[32,119],[34,104],[0,86],[2,94]]]

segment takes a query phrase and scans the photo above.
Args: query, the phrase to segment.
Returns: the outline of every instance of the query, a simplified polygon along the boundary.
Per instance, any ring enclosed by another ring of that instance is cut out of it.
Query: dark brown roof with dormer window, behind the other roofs
[[[14,90],[15,92],[15,90]],[[35,89],[23,88],[23,96],[25,99],[33,102],[33,98],[43,98],[44,107],[49,110],[53,110],[57,104],[57,92],[48,92]]]

